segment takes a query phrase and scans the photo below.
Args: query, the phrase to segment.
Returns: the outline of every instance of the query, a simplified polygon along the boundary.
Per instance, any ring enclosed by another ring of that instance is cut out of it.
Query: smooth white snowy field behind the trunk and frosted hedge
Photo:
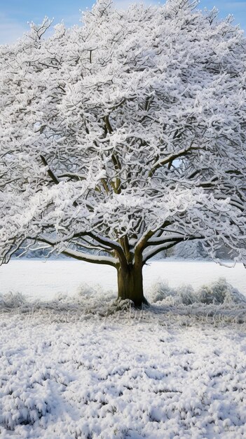
[[[228,268],[214,262],[184,260],[154,261],[144,266],[144,290],[148,295],[158,281],[168,281],[170,287],[192,285],[198,288],[221,277],[246,295],[246,270],[242,264]],[[116,270],[111,266],[72,259],[13,260],[0,267],[0,293],[21,292],[33,298],[53,299],[60,293],[74,295],[85,284],[115,292],[116,283]]]

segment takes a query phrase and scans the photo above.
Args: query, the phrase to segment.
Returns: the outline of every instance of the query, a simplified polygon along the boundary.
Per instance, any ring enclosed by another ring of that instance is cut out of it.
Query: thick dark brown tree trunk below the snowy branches
[[[119,266],[118,273],[118,299],[130,299],[137,308],[148,304],[144,297],[142,264],[128,264],[127,267]]]

